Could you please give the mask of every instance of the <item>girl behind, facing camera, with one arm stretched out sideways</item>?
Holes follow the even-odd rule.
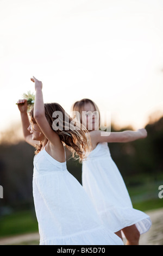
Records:
[[[74,103],[82,125],[89,130],[92,151],[82,165],[82,184],[89,194],[99,217],[105,225],[122,239],[126,245],[138,245],[140,234],[151,227],[150,217],[142,211],[133,209],[126,185],[115,162],[111,159],[109,142],[131,142],[145,138],[145,129],[137,131],[105,132],[99,130],[99,109],[90,99]],[[98,114],[97,114],[98,113]],[[105,136],[101,134],[105,133]],[[122,231],[122,233],[121,233]]]

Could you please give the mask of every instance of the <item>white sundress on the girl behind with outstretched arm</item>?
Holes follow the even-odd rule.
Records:
[[[151,218],[133,208],[107,142],[98,143],[83,161],[82,185],[102,222],[112,231],[117,232],[135,224],[140,234],[143,234],[151,227]]]

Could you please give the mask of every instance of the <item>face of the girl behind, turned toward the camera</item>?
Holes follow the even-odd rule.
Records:
[[[88,131],[99,130],[99,113],[91,103],[86,103],[82,109],[82,124]]]

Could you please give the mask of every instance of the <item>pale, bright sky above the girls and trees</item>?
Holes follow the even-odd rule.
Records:
[[[162,0],[0,0],[0,131],[43,83],[45,102],[70,113],[90,98],[118,127],[163,115]]]

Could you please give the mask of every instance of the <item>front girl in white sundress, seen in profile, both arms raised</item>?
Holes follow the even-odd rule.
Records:
[[[35,82],[36,94],[30,123],[27,100],[17,104],[24,138],[36,147],[33,196],[40,245],[123,245],[120,237],[104,228],[82,185],[66,168],[63,143],[82,160],[82,150],[88,148],[85,133],[71,129],[72,119],[58,103],[44,104],[42,82],[31,80]],[[60,114],[67,119],[60,118]],[[69,130],[66,125],[70,125]]]

